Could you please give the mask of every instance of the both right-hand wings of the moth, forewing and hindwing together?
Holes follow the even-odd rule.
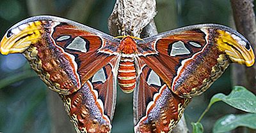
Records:
[[[140,40],[137,46],[140,62],[148,68],[142,69],[143,85],[138,85],[134,96],[136,132],[171,131],[189,99],[207,90],[230,62],[254,63],[248,41],[222,25],[184,27]],[[149,69],[163,85],[147,85]]]

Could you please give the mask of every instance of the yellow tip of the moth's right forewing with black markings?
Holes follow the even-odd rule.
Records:
[[[255,55],[249,41],[235,31],[216,30],[218,48],[225,52],[232,62],[250,67],[255,62]]]

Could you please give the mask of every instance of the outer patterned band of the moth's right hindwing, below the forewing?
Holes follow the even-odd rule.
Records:
[[[154,99],[152,99],[152,101],[147,104],[147,110],[145,110],[145,115],[143,115],[143,117],[141,117],[138,122],[135,121],[136,126],[134,127],[134,131],[171,131],[175,127],[177,122],[179,122],[184,108],[189,101],[190,99],[182,98],[178,95],[173,94],[173,92],[166,86],[166,84],[164,84],[159,89],[159,91],[154,94]],[[144,103],[139,103],[138,106],[140,106],[140,104],[144,105]]]

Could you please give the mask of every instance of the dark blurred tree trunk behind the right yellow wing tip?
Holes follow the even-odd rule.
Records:
[[[243,34],[256,48],[256,24],[255,13],[253,11],[253,0],[230,0],[233,17],[236,23],[237,31]],[[254,51],[255,52],[255,51]],[[254,53],[255,54],[255,53]],[[242,85],[256,94],[256,66],[244,67],[234,64],[232,66],[233,85]],[[247,129],[237,129],[234,132],[243,132]],[[248,129],[249,132],[255,133],[256,130]]]

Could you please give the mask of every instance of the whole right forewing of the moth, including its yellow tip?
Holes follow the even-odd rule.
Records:
[[[255,59],[241,34],[216,24],[183,27],[137,43],[140,59],[182,97],[202,94],[230,62],[252,66]]]

